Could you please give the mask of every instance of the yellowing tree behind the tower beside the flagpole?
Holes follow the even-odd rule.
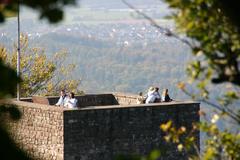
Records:
[[[21,36],[21,95],[34,94],[58,95],[62,89],[80,93],[80,80],[72,79],[71,72],[74,64],[65,64],[66,51],[57,52],[52,59],[48,58],[41,48],[29,47],[28,37]],[[4,47],[0,48],[0,57],[13,69],[16,69],[17,51],[9,53]]]

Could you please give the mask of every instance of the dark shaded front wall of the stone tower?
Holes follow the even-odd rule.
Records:
[[[160,124],[172,120],[191,128],[199,121],[199,104],[165,103],[138,106],[109,106],[64,111],[65,160],[113,160],[117,155],[146,155],[159,147],[164,160],[186,159],[167,145]],[[199,133],[196,133],[199,144]]]

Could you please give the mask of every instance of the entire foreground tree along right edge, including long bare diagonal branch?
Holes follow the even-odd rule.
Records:
[[[191,96],[216,109],[211,118],[206,118],[206,113],[200,112],[205,121],[193,124],[193,132],[200,129],[206,134],[203,152],[196,152],[189,159],[239,159],[240,154],[240,110],[234,106],[239,100],[240,71],[240,21],[239,2],[230,0],[164,0],[173,10],[170,18],[176,22],[177,30],[185,34],[187,38],[181,38],[178,34],[159,26],[151,17],[140,12],[134,6],[122,0],[130,8],[133,8],[143,17],[148,19],[153,26],[164,30],[167,36],[179,39],[187,44],[195,56],[192,63],[187,67],[189,86],[197,84],[199,92],[193,93],[188,90],[186,83],[179,83],[178,87]],[[208,86],[213,84],[228,83],[231,88],[218,103],[209,100]],[[235,124],[235,132],[226,128],[221,130],[216,122],[223,117],[230,118]],[[178,150],[189,152],[194,146],[194,137],[186,137],[186,128],[174,127],[171,121],[160,127],[166,136],[166,141],[177,144]],[[185,138],[184,138],[185,137]],[[180,141],[184,139],[183,141]],[[197,149],[198,150],[198,149]]]

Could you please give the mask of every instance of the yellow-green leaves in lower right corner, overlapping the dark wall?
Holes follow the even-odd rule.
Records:
[[[206,120],[206,114],[201,113]],[[206,141],[204,143],[204,149],[202,153],[191,154],[191,146],[197,147],[194,141],[194,135],[184,135],[186,133],[185,127],[176,129],[169,121],[161,125],[161,129],[166,133],[164,139],[167,142],[173,142],[178,145],[180,152],[187,151],[189,159],[239,159],[240,158],[240,134],[232,133],[228,130],[221,131],[216,125],[220,116],[214,114],[211,118],[211,123],[204,121],[199,124],[194,124],[193,129],[189,133],[193,133],[195,130],[200,129],[206,133]],[[181,142],[180,139],[183,139]],[[196,148],[198,151],[198,149]]]

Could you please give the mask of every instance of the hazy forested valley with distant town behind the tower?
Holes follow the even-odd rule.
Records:
[[[143,1],[132,2],[146,8]],[[132,16],[131,10],[112,10],[121,6],[119,3],[106,0],[96,6],[94,1],[82,1],[83,7],[69,8],[67,13],[72,16],[57,26],[33,20],[31,11],[23,9],[21,31],[29,36],[31,46],[45,48],[49,57],[67,49],[70,54],[66,61],[77,64],[74,76],[82,79],[86,92],[137,93],[154,85],[169,88],[173,97],[183,98],[176,84],[185,79],[185,65],[191,57],[187,46],[164,36],[142,17]],[[174,30],[171,21],[157,16],[157,6],[161,5],[152,5],[147,12],[155,15],[161,26]],[[16,21],[10,19],[0,32],[0,43],[12,49]]]

